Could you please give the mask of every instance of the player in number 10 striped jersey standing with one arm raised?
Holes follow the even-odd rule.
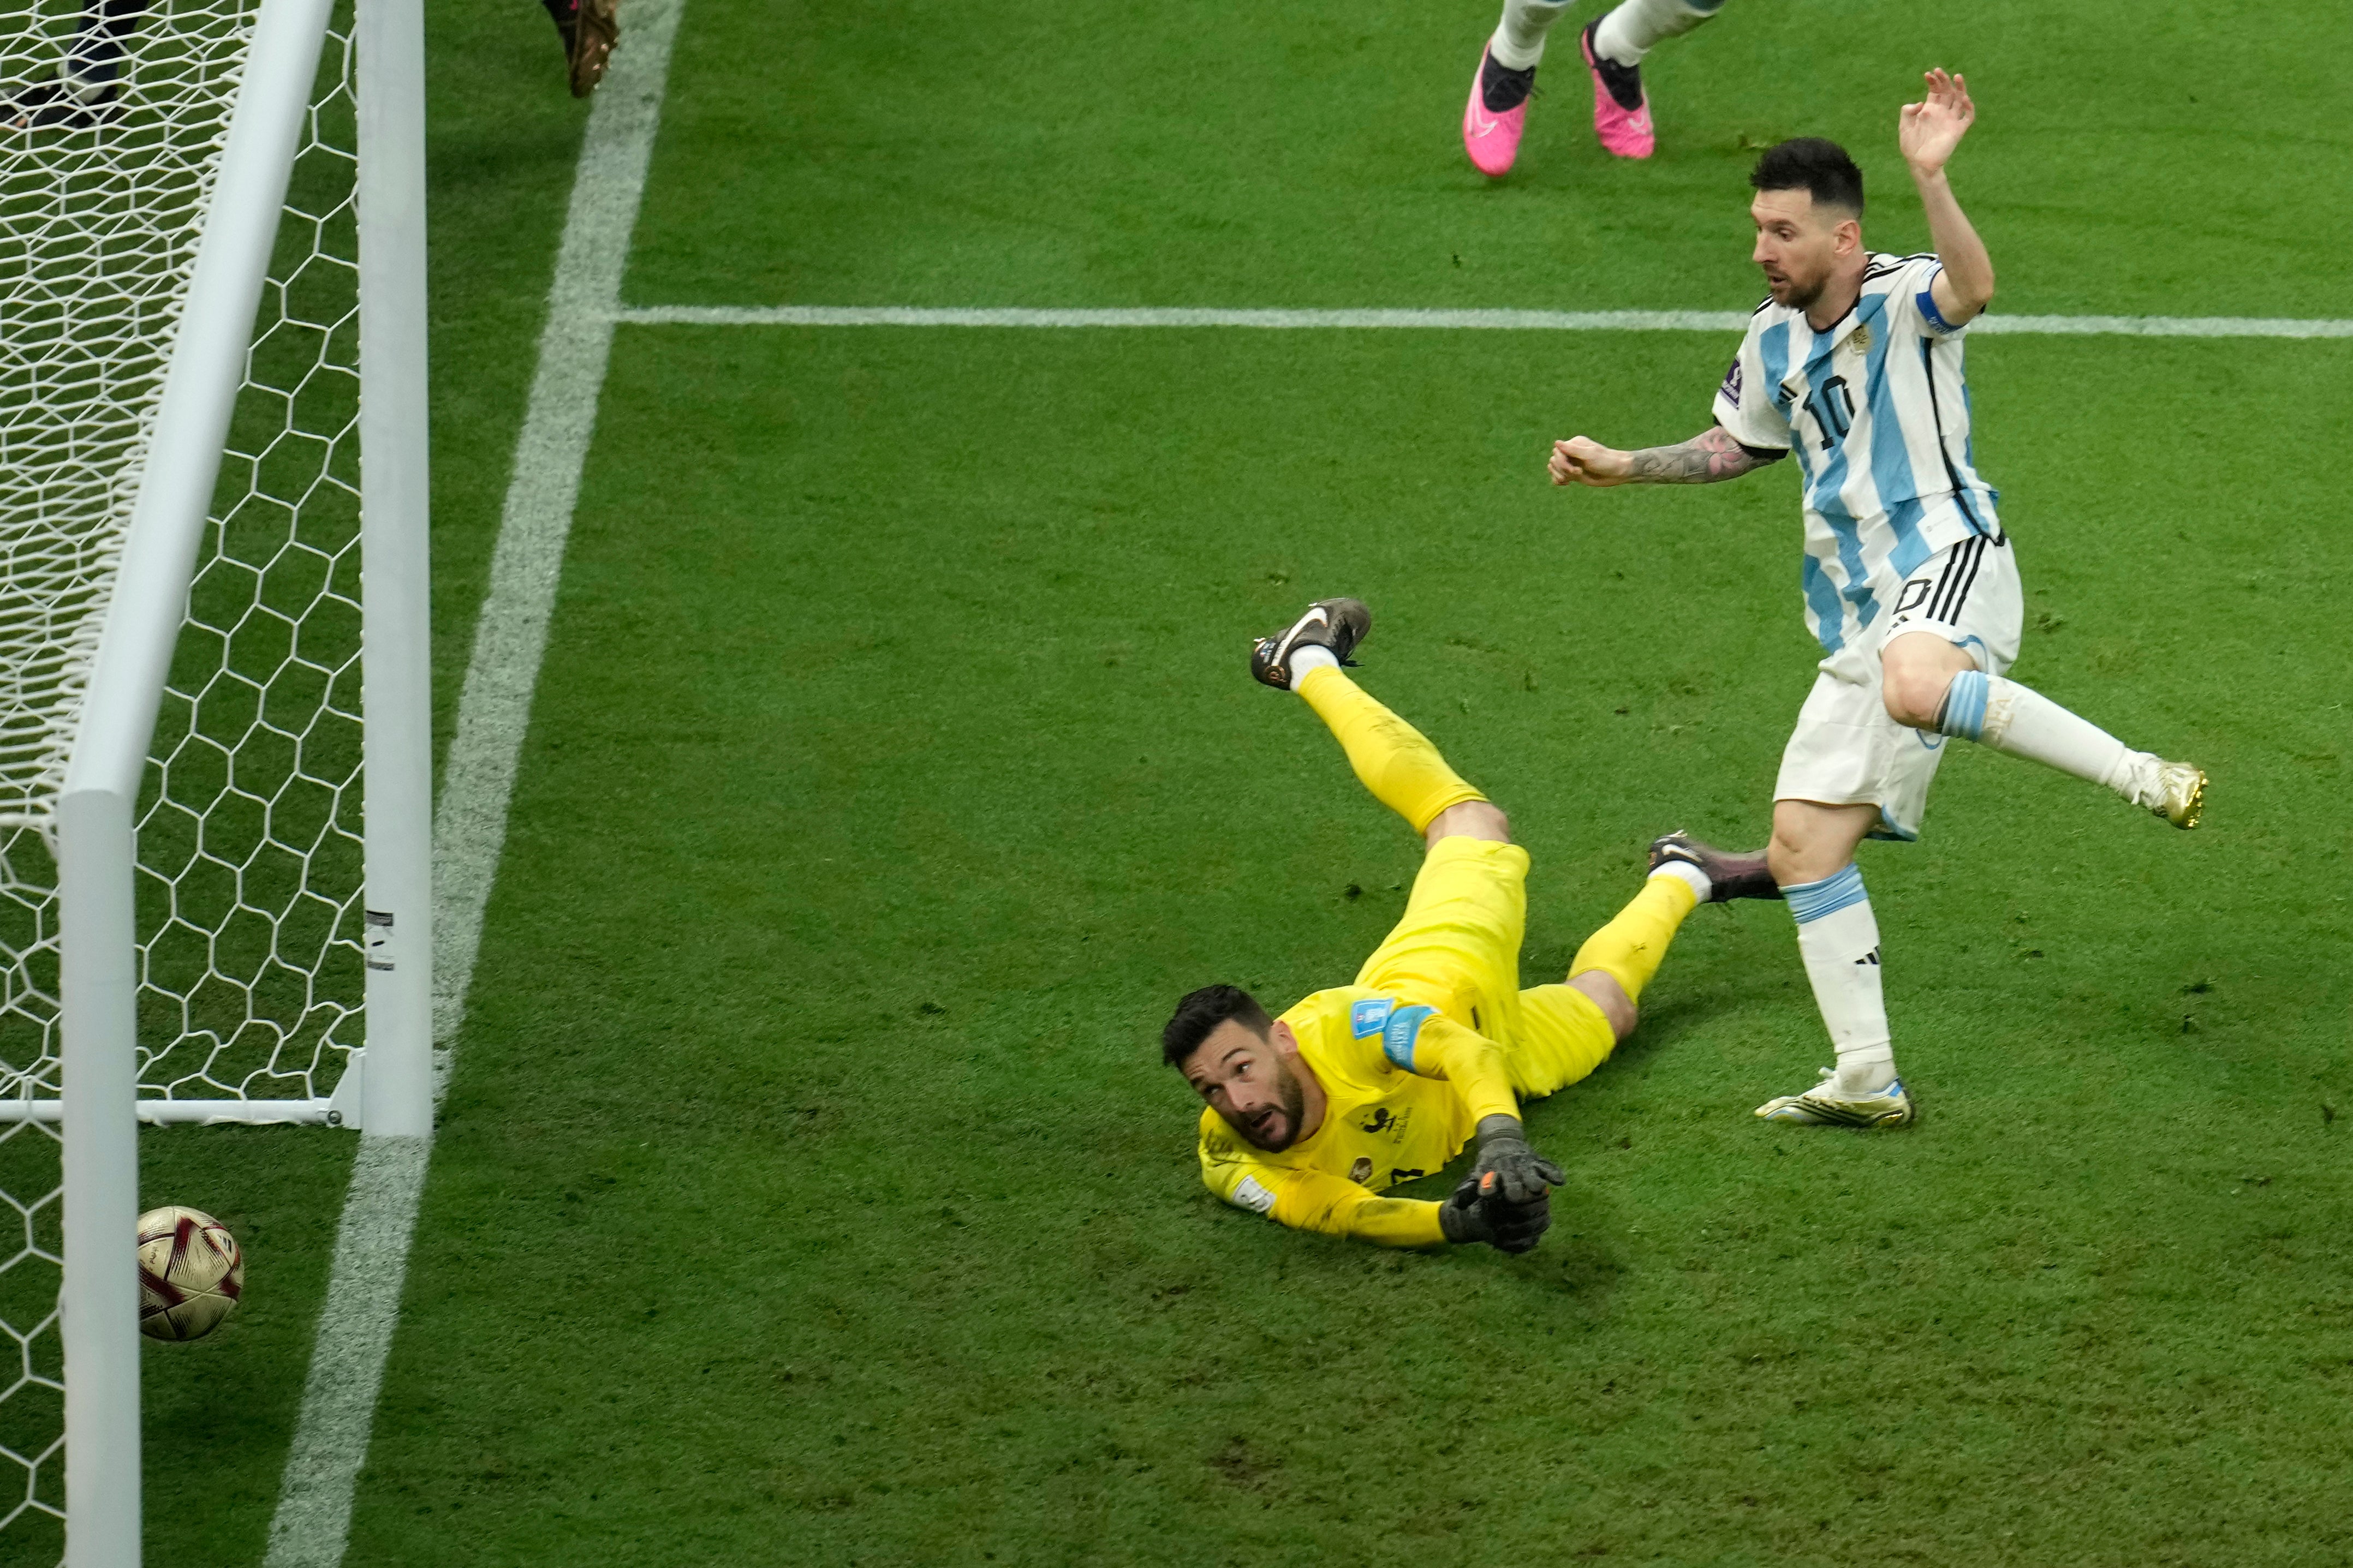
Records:
[[[1647,451],[1553,444],[1553,482],[1595,487],[1706,484],[1798,454],[1800,583],[1821,665],[1781,755],[1769,865],[1838,1067],[1760,1105],[1772,1121],[1913,1119],[1854,849],[1920,835],[1946,738],[2089,778],[2174,827],[2205,809],[2202,771],[2137,752],[2007,677],[2024,616],[2017,545],[1972,458],[1962,369],[1993,261],[1944,172],[1974,120],[1967,82],[1944,71],[1904,106],[1904,162],[1937,244],[1920,256],[1864,249],[1864,176],[1835,143],[1767,150],[1748,214],[1769,299],[1715,390],[1715,423]]]

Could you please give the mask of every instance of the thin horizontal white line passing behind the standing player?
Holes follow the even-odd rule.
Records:
[[[631,306],[631,327],[1247,327],[1273,331],[1741,331],[1746,310],[1016,310],[929,306]],[[1988,315],[1969,336],[2353,339],[2353,322],[2261,315]]]

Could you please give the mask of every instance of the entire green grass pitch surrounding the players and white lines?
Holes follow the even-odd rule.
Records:
[[[626,296],[1746,308],[1753,148],[1845,139],[1920,247],[1948,63],[1998,310],[2353,315],[2341,5],[1729,0],[1640,167],[1591,12],[1487,188],[1485,0],[689,0]],[[581,113],[536,7],[431,21],[447,738]],[[1346,980],[1417,863],[1245,679],[1306,597],[1513,811],[1532,976],[1652,835],[1762,835],[1793,477],[1541,480],[1704,425],[1729,350],[624,327],[346,1561],[2353,1561],[2341,341],[1972,348],[2021,679],[2214,797],[1965,750],[1864,851],[1918,1128],[1751,1121],[1828,1051],[1786,912],[1701,910],[1529,1112],[1539,1253],[1202,1192],[1167,1006]],[[249,1255],[146,1352],[151,1561],[254,1563],[351,1140],[144,1161]]]

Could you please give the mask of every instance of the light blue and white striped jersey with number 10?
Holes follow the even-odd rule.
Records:
[[[1937,256],[1873,254],[1828,331],[1769,299],[1715,390],[1715,423],[1786,447],[1805,470],[1805,623],[1824,663],[1859,646],[1904,578],[1946,545],[2000,538],[1995,489],[1969,461],[1962,327],[1929,296]]]

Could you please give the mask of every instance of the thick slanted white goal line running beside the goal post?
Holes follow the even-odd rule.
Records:
[[[499,522],[489,592],[459,696],[456,733],[433,816],[433,1039],[442,1051],[466,1013],[489,900],[506,844],[506,804],[548,644],[548,614],[579,496],[595,407],[612,353],[614,306],[645,167],[661,122],[671,40],[682,0],[631,0],[628,33],[598,92],[572,176],[539,374],[515,442],[515,473]],[[376,1420],[384,1359],[393,1347],[409,1237],[424,1194],[424,1138],[360,1138],[360,1157],[334,1241],[327,1305],[287,1453],[266,1568],[336,1568],[351,1537],[351,1500]]]

